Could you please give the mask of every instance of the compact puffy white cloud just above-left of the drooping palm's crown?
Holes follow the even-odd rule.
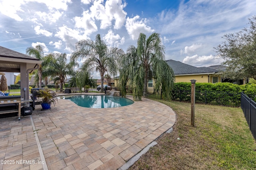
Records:
[[[146,25],[146,19],[138,21],[140,16],[135,16],[134,18],[127,18],[126,19],[126,30],[130,37],[135,40],[138,39],[140,33],[152,33],[154,29]]]

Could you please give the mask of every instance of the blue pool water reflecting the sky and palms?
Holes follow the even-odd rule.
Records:
[[[127,98],[106,95],[74,95],[71,97],[63,97],[82,107],[89,108],[110,108],[121,107],[133,104],[134,102]]]

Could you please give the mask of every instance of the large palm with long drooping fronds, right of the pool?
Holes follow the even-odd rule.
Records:
[[[152,33],[147,37],[140,33],[137,48],[130,46],[125,59],[120,60],[120,86],[124,91],[126,82],[131,81],[134,100],[148,94],[148,80],[154,75],[156,90],[163,90],[163,98],[170,100],[175,76],[172,68],[165,62],[164,46],[160,34]],[[126,63],[126,64],[124,64]],[[121,75],[123,74],[123,75]]]

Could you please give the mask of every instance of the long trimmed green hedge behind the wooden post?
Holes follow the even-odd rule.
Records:
[[[256,101],[256,84],[237,85],[232,83],[196,83],[196,101],[220,105],[240,105],[240,94],[244,92]],[[191,83],[174,84],[173,100],[190,101]]]

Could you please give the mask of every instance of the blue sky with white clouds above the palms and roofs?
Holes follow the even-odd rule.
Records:
[[[249,27],[255,9],[255,0],[0,0],[0,46],[26,54],[41,45],[69,60],[76,42],[97,34],[126,51],[156,32],[166,60],[211,66],[222,63],[214,47]]]

